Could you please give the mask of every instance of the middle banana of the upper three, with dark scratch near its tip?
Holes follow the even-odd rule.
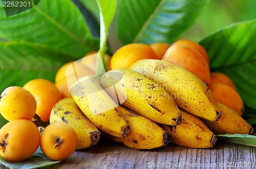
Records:
[[[114,69],[101,76],[101,86],[116,101],[154,122],[179,125],[180,110],[157,83],[131,69]],[[116,100],[117,98],[117,100]]]

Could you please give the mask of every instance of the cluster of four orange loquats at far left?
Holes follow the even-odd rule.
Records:
[[[1,94],[0,112],[9,122],[0,129],[1,157],[10,162],[23,161],[39,146],[52,160],[72,155],[77,144],[75,130],[66,123],[48,122],[52,107],[60,99],[58,88],[45,79],[6,88]],[[41,133],[40,127],[45,127]]]

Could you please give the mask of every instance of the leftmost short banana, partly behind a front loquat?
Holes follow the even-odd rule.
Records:
[[[72,98],[62,99],[53,106],[50,124],[55,122],[65,122],[75,129],[76,150],[94,146],[99,141],[100,132],[82,113]]]

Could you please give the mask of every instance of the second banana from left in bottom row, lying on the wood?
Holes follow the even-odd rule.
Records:
[[[122,106],[118,107],[131,127],[130,134],[125,137],[115,137],[102,132],[113,141],[131,149],[154,149],[165,146],[170,142],[170,135],[152,120],[143,117]]]

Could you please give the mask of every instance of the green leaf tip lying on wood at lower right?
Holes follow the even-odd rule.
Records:
[[[248,134],[224,134],[216,135],[216,137],[223,141],[244,144],[247,146],[256,147],[256,136]]]

